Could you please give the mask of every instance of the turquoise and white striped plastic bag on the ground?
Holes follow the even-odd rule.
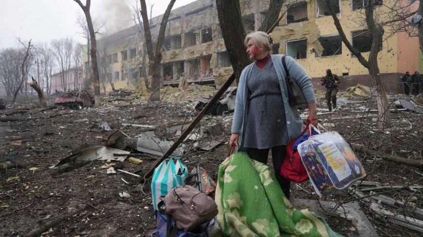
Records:
[[[152,176],[152,200],[154,210],[160,202],[160,196],[166,196],[170,190],[177,186],[184,186],[188,177],[186,166],[177,156],[164,160]]]

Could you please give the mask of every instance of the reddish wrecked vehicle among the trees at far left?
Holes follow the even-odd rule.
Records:
[[[94,93],[90,90],[73,90],[58,95],[54,103],[75,109],[91,107],[94,105]]]

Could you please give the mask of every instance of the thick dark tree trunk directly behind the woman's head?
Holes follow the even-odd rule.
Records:
[[[216,0],[216,8],[226,51],[239,83],[242,70],[251,63],[244,46],[246,34],[241,20],[239,1]]]

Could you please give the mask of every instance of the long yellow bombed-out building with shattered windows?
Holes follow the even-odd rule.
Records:
[[[269,6],[269,0],[241,0],[242,21],[247,32],[257,30]],[[367,59],[372,34],[363,27],[365,0],[331,0],[339,21],[353,46]],[[375,13],[383,16],[391,1],[378,0]],[[385,4],[385,5],[383,5]],[[325,69],[342,76],[342,87],[362,84],[372,86],[364,68],[342,43],[325,0],[287,0],[285,14],[273,30],[273,53],[292,56],[321,88]],[[151,31],[157,38],[163,15],[151,19]],[[389,27],[384,27],[385,35]],[[132,26],[98,40],[99,68],[103,90],[140,85],[148,75],[147,54],[142,32]],[[406,33],[394,33],[383,41],[379,52],[382,82],[389,92],[401,92],[400,76],[406,71],[420,71],[419,40]],[[163,85],[190,83],[219,87],[233,70],[220,31],[214,0],[197,0],[173,9],[163,43],[160,74]],[[84,69],[89,68],[86,55]],[[142,84],[142,83],[141,83]]]

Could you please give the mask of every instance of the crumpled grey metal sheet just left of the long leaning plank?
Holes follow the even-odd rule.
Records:
[[[163,155],[173,145],[172,141],[162,140],[154,135],[154,132],[145,132],[138,136],[136,142],[136,150],[139,152],[146,152],[155,155]],[[182,145],[183,146],[183,145]],[[181,156],[184,154],[184,149],[179,146],[172,155]]]

